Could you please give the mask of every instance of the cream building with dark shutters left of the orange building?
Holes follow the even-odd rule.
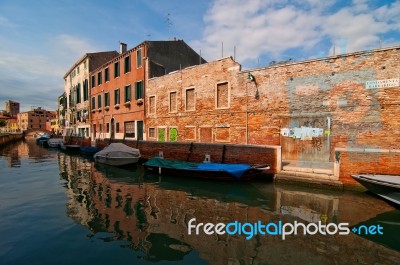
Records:
[[[64,135],[90,136],[89,75],[91,71],[117,55],[116,51],[87,53],[64,75],[66,97],[66,109],[63,115],[65,122],[62,123],[65,126]]]

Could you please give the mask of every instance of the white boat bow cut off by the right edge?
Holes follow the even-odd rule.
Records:
[[[369,191],[400,205],[400,176],[360,174],[352,177]]]

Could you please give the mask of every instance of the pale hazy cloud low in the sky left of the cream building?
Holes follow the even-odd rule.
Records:
[[[85,53],[95,51],[95,46],[64,34],[43,43],[41,49],[45,52],[11,45],[0,50],[0,99],[19,101],[23,110],[30,105],[54,108],[64,91],[64,74]]]

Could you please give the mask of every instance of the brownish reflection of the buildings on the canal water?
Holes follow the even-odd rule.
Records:
[[[379,222],[386,212],[398,214],[369,194],[161,178],[145,174],[140,166],[97,165],[62,153],[58,159],[69,199],[68,216],[90,229],[89,237],[107,235],[102,240],[126,241],[124,247],[140,259],[182,261],[197,251],[200,258],[195,263],[210,264],[396,264],[400,260],[399,249],[355,234],[297,235],[283,241],[270,235],[246,240],[243,235],[187,232],[191,218],[197,223],[321,220],[356,225],[370,219]]]

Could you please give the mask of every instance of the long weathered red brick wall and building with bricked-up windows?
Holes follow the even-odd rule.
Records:
[[[335,173],[400,174],[400,47],[241,71],[224,58],[150,79],[148,140],[281,146]]]

